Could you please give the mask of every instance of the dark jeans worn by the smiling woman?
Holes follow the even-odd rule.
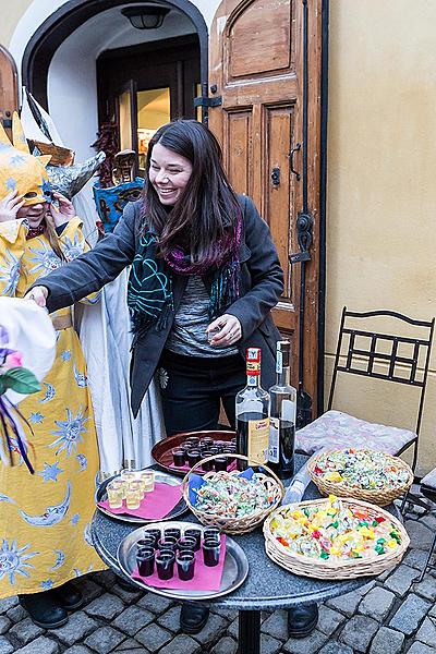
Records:
[[[234,397],[246,384],[240,354],[206,359],[165,350],[158,367],[167,435],[216,429],[220,400],[234,428]]]

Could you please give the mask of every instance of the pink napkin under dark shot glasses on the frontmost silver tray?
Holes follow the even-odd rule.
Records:
[[[209,568],[204,565],[203,552],[195,553],[194,578],[190,581],[179,579],[177,562],[174,561],[174,576],[172,579],[162,580],[157,576],[157,570],[149,577],[141,577],[138,569],[133,571],[133,579],[138,579],[147,585],[156,589],[171,589],[178,591],[219,591],[221,586],[222,570],[226,558],[226,536],[221,534],[221,552],[219,553],[218,566]]]

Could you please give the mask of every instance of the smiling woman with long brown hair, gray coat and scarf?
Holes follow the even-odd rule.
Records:
[[[40,279],[29,296],[55,311],[128,265],[133,412],[158,373],[168,435],[217,428],[221,401],[234,426],[249,346],[262,348],[263,386],[275,383],[280,335],[270,311],[283,274],[268,226],[232,190],[220,146],[202,123],[180,120],[156,132],[143,199],[126,206],[93,251]],[[202,605],[183,606],[184,631],[199,631],[206,619]]]

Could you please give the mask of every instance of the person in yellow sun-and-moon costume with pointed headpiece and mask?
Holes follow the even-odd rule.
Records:
[[[17,114],[13,145],[0,123],[0,295],[22,298],[88,249],[73,205],[51,192],[48,159],[29,154]],[[52,323],[53,366],[41,390],[20,404],[34,432],[26,453],[35,472],[13,439],[13,465],[0,464],[0,598],[19,595],[48,629],[83,603],[71,580],[105,568],[89,537],[99,462],[85,360],[71,308]]]

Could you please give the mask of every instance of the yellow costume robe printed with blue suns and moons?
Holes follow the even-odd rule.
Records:
[[[66,261],[87,250],[81,225],[73,218],[58,237]],[[27,240],[27,230],[25,220],[0,222],[0,295],[22,298],[38,277],[62,265],[46,237]],[[55,364],[43,390],[20,404],[34,431],[27,453],[35,474],[19,451],[13,467],[0,465],[0,598],[105,568],[89,537],[98,452],[85,360],[71,311],[52,317]]]

